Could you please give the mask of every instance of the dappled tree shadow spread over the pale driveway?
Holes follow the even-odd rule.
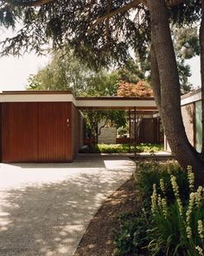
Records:
[[[73,255],[92,215],[131,176],[129,161],[127,169],[67,173],[55,182],[1,189],[0,255]]]

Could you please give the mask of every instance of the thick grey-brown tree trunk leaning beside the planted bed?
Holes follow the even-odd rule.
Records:
[[[160,110],[169,146],[183,169],[191,165],[196,185],[204,184],[204,162],[194,147],[189,144],[182,122],[180,83],[175,61],[175,52],[169,29],[169,13],[164,0],[147,0],[150,10],[152,43],[153,84],[156,104]],[[154,59],[156,58],[156,59]],[[156,84],[156,77],[158,84]]]

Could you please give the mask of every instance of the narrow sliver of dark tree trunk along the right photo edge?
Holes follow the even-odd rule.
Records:
[[[204,110],[204,0],[201,0],[201,27],[200,27],[200,48],[201,48],[201,106]],[[204,158],[204,111],[202,111],[202,150],[201,157]]]

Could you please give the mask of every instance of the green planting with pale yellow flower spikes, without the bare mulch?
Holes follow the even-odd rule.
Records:
[[[115,255],[204,255],[204,189],[192,168],[141,163],[136,177],[141,207],[119,217]]]

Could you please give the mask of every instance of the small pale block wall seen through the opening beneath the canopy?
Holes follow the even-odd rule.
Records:
[[[101,121],[98,125],[98,129],[104,125],[104,122]],[[103,127],[101,128],[99,137],[98,137],[98,142],[99,144],[116,144],[116,127]]]

